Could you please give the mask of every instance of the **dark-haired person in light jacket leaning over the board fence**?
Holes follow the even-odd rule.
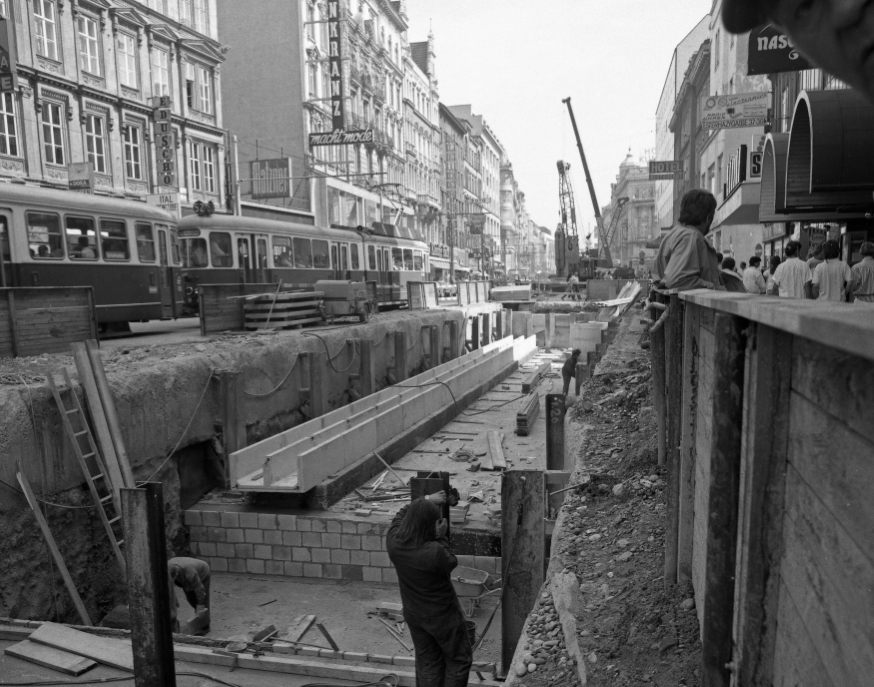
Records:
[[[716,215],[716,198],[692,189],[680,201],[680,217],[659,244],[653,285],[665,289],[724,289],[716,250],[704,237]]]

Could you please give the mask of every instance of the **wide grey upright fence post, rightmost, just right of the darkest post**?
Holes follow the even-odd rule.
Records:
[[[747,348],[733,623],[734,662],[744,685],[766,681],[773,672],[793,338],[759,325]]]

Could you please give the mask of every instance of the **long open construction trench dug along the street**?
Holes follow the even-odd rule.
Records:
[[[550,305],[538,309],[552,310]],[[304,684],[313,676],[361,684],[394,673],[399,684],[414,684],[412,641],[396,624],[400,597],[384,534],[409,501],[410,489],[418,488],[410,478],[436,471],[462,497],[450,514],[451,541],[459,566],[477,577],[460,597],[462,607],[477,637],[488,624],[471,684],[505,678],[505,684],[526,685],[662,684],[662,677],[664,684],[695,684],[700,650],[694,610],[683,607],[689,592],[664,592],[652,581],[660,566],[664,482],[653,474],[658,471],[639,310],[586,328],[598,334],[592,355],[581,359],[581,395],[574,395],[572,381],[562,436],[555,439],[554,427],[547,436],[547,396],[555,403],[561,394],[561,364],[572,339],[584,335],[575,325],[598,314],[597,308],[579,310],[535,314],[483,303],[384,313],[364,325],[104,351],[134,476],[163,487],[167,555],[203,559],[213,573],[210,632],[174,637],[177,672],[246,685]],[[602,319],[610,320],[609,313]],[[110,626],[88,631],[107,640],[129,637],[125,629],[111,629],[125,625],[125,612],[117,608],[126,602],[124,579],[106,533],[87,508],[90,495],[70,459],[54,400],[40,383],[48,370],[64,365],[71,360],[47,356],[0,370],[6,419],[0,479],[7,485],[0,485],[6,492],[0,500],[7,533],[0,545],[4,649],[42,621],[82,625],[33,513],[10,488],[18,484],[18,462],[46,501],[76,507],[43,510],[88,615]],[[533,417],[532,393],[539,409]],[[381,396],[368,402],[373,394]],[[390,399],[399,394],[407,398],[395,416]],[[362,417],[370,412],[366,408],[376,408],[371,414],[381,420],[371,424],[388,423],[380,430],[388,434],[369,436],[364,424],[355,425],[348,418],[358,417],[356,408]],[[526,411],[530,426],[517,434],[524,422],[519,413]],[[312,434],[310,450],[342,457],[354,447],[364,455],[313,474],[303,461],[282,468],[281,449],[306,440],[295,437],[294,428],[337,412],[347,413],[342,421],[354,430],[347,432],[351,443],[343,443],[342,433],[320,430],[329,432],[327,439],[319,443]],[[602,429],[607,448],[601,448]],[[226,448],[235,449],[227,450],[229,459]],[[513,476],[522,475],[524,482],[529,471],[542,486],[520,491]],[[282,489],[289,479],[300,480],[302,489]],[[516,523],[502,518],[502,491],[529,509],[518,538],[512,532],[518,541],[510,545],[510,561],[502,557],[508,550],[502,540]],[[635,507],[643,515],[627,513]],[[519,509],[515,503],[511,508]],[[588,509],[597,515],[589,518]],[[598,551],[584,557],[587,549]],[[531,569],[543,574],[532,576]],[[636,582],[641,588],[632,594]],[[499,604],[502,584],[507,591]],[[649,595],[658,597],[655,606],[667,610],[645,607],[647,585]],[[586,600],[579,598],[581,591],[589,594]],[[620,611],[623,596],[644,607]],[[188,607],[181,594],[179,599],[184,621]],[[629,613],[641,618],[629,622]],[[654,624],[644,618],[652,613]],[[607,616],[603,627],[590,622],[596,615]],[[312,626],[296,637],[303,644],[283,642],[308,616],[327,633]],[[270,641],[252,643],[271,626],[276,633]],[[647,633],[653,641],[646,646],[632,652],[633,641],[619,646],[623,634],[640,641]],[[511,643],[504,641],[507,634]],[[677,639],[665,645],[670,637]],[[249,651],[229,654],[232,641],[248,642]],[[101,664],[85,677],[124,674]],[[57,673],[4,655],[0,675],[7,681],[45,680]],[[180,676],[178,682],[210,684],[195,679],[205,678]]]

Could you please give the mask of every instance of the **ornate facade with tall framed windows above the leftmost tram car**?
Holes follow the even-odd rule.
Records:
[[[0,177],[68,188],[70,165],[91,163],[94,193],[178,188],[183,210],[200,200],[221,211],[224,50],[214,0],[7,0],[0,11],[18,77],[17,90],[0,94]],[[172,170],[159,165],[158,96],[171,107]]]

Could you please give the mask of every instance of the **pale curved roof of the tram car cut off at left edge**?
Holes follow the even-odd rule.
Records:
[[[0,183],[0,204],[2,203],[47,206],[59,210],[78,210],[94,214],[132,214],[139,219],[151,219],[168,224],[175,222],[169,213],[142,201],[26,184]]]

